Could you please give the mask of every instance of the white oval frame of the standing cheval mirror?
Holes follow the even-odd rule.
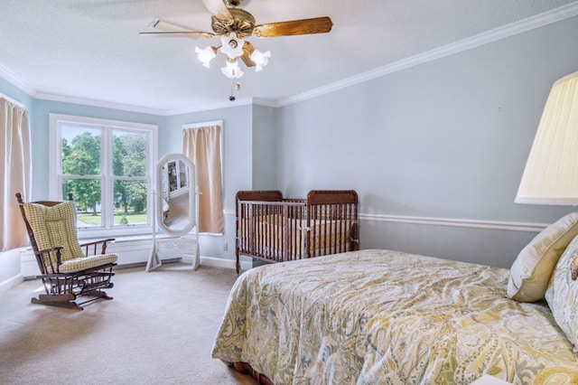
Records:
[[[189,183],[189,222],[182,229],[171,229],[164,223],[163,215],[163,165],[170,162],[182,162],[187,167],[187,180]],[[156,163],[156,224],[167,235],[181,237],[191,231],[196,225],[196,183],[195,165],[182,154],[167,154]]]

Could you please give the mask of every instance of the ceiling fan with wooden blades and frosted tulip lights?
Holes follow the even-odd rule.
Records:
[[[222,52],[228,56],[227,65],[223,67],[223,73],[231,79],[240,78],[243,72],[238,66],[238,58],[247,67],[256,67],[256,71],[262,70],[267,64],[270,52],[259,52],[253,44],[245,39],[250,36],[261,38],[292,36],[312,33],[328,33],[333,23],[331,18],[315,17],[312,19],[292,20],[278,23],[256,24],[255,17],[244,9],[239,8],[241,0],[202,0],[203,5],[211,14],[212,33],[204,31],[186,31],[179,28],[178,31],[146,32],[143,35],[164,35],[183,37],[212,38],[221,37],[219,47],[196,48],[197,57],[203,65],[209,68],[210,61]],[[156,27],[160,23],[155,18],[149,27]]]

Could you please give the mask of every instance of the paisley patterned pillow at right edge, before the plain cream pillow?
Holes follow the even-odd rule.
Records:
[[[545,300],[556,324],[566,334],[578,353],[578,281],[572,279],[572,268],[578,259],[578,237],[574,238],[558,261],[545,291]]]

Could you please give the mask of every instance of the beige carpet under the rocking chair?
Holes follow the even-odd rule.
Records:
[[[2,384],[255,384],[210,357],[235,271],[118,269],[112,301],[33,305],[40,281],[0,294]]]

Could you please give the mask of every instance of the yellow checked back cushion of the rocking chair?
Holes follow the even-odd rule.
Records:
[[[76,232],[74,202],[62,202],[52,207],[24,203],[23,208],[39,249],[63,246],[62,261],[84,257]]]

